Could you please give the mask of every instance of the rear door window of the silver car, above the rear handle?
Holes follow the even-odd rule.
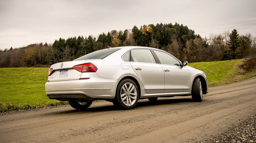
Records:
[[[148,49],[131,50],[131,61],[142,63],[156,63],[153,54]]]

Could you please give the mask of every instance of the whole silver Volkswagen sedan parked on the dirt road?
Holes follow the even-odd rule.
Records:
[[[146,98],[191,95],[201,102],[208,80],[187,63],[155,48],[108,48],[53,64],[45,91],[50,99],[68,101],[75,109],[86,109],[99,99],[121,109],[132,109]]]

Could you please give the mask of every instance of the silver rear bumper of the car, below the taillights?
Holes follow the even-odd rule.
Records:
[[[45,83],[45,92],[50,99],[114,99],[116,79],[99,78],[86,80],[54,81]]]

